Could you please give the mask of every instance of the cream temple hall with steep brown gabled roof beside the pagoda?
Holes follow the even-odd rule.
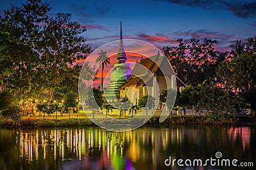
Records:
[[[156,81],[153,81],[154,77]],[[157,89],[157,84],[159,89]],[[150,95],[157,101],[161,90],[172,88],[181,91],[184,87],[186,87],[186,84],[175,75],[168,59],[158,52],[152,57],[137,62],[131,76],[118,90],[120,90],[121,98],[129,97],[129,100],[136,104],[138,99],[143,96]]]

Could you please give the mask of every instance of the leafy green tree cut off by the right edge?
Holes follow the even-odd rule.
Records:
[[[221,79],[221,85],[242,95],[253,110],[256,109],[255,98],[253,98],[256,96],[255,39],[255,37],[246,39],[243,53],[222,62],[217,72]]]

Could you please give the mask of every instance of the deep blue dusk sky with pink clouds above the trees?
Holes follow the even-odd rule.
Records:
[[[84,34],[92,49],[118,39],[120,21],[124,38],[136,38],[161,48],[175,40],[211,38],[218,50],[230,50],[236,40],[256,36],[256,1],[237,0],[45,0],[51,13],[71,13],[86,25]],[[0,11],[24,0],[1,0]]]

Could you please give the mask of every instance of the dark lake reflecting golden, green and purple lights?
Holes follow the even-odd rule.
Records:
[[[0,169],[255,169],[255,128],[0,129]]]

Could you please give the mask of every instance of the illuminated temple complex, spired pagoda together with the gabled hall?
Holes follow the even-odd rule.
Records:
[[[141,57],[140,62],[137,60],[133,71],[130,64],[125,63],[126,60],[121,22],[117,64],[111,72],[108,89],[104,92],[104,96],[111,104],[115,104],[116,99],[124,97],[128,97],[133,104],[136,104],[140,97],[147,95],[154,97],[157,103],[161,90],[169,88],[182,90],[186,87],[186,84],[175,75],[168,59],[159,52],[146,59]],[[153,81],[154,77],[156,81]]]

